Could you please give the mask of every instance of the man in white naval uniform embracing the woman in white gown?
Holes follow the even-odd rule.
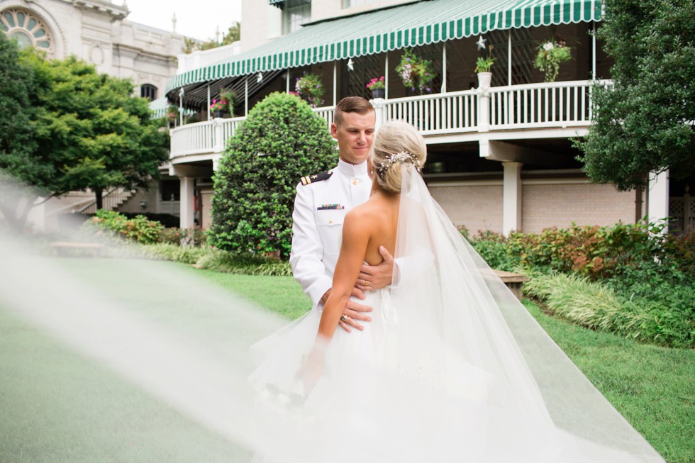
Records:
[[[367,156],[375,123],[374,108],[366,99],[348,96],[338,101],[330,124],[330,134],[338,140],[338,167],[302,177],[297,186],[289,262],[294,278],[314,307],[323,308],[330,294],[345,214],[369,199],[372,180],[367,174]],[[362,265],[353,296],[364,299],[363,291],[391,284],[394,258],[384,247],[379,247],[379,252],[384,261],[376,266]],[[351,327],[362,330],[359,321],[370,321],[369,311],[371,307],[349,300],[340,326],[348,332]]]

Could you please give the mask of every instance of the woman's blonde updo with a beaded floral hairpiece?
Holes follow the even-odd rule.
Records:
[[[372,168],[382,190],[401,192],[401,169],[412,165],[421,172],[427,158],[427,145],[413,125],[403,121],[385,123],[372,143]]]

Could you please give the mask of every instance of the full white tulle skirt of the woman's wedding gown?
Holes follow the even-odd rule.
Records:
[[[338,328],[318,384],[297,377],[316,339],[314,310],[252,347],[250,376],[265,430],[257,462],[631,462],[569,435],[547,415],[491,396],[496,378],[426,327],[400,338],[390,290],[367,294],[372,322]],[[419,352],[404,359],[401,353]]]

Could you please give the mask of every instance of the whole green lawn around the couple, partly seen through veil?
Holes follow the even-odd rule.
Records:
[[[51,262],[83,284],[98,286],[101,294],[123,303],[128,311],[229,350],[230,356],[238,356],[235,362],[248,362],[242,358],[248,352],[243,346],[282,323],[259,323],[254,314],[276,312],[296,318],[310,306],[291,277],[219,274],[144,260]],[[240,303],[235,294],[265,310]],[[667,461],[695,461],[695,352],[595,333],[551,318],[532,302],[526,301],[526,306]],[[1,297],[0,416],[1,462],[250,458],[243,447],[28,323],[3,305]]]

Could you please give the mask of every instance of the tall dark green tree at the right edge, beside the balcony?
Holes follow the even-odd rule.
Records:
[[[606,0],[598,31],[613,87],[593,88],[592,125],[577,146],[594,182],[646,186],[650,172],[695,172],[695,4]]]

